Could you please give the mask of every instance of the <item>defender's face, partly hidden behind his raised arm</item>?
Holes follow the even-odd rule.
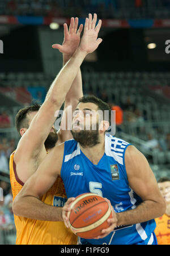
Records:
[[[29,123],[28,123],[29,125],[31,124],[31,121],[36,114],[37,114],[37,111],[33,111],[27,114],[29,118]],[[57,132],[53,125],[53,127],[50,129],[48,137],[44,142],[45,148],[46,149],[53,148],[56,145],[57,140],[58,140]]]

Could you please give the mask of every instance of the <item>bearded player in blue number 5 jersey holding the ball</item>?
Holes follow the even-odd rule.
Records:
[[[92,36],[97,39],[94,29],[90,16],[81,41],[86,54],[90,52]],[[69,198],[62,208],[68,228],[67,213],[75,196],[93,192],[107,198],[112,205],[109,228],[94,239],[81,238],[79,244],[157,244],[154,219],[165,212],[164,199],[145,156],[133,145],[107,133],[111,120],[105,119],[105,111],[111,112],[108,104],[95,96],[79,99],[72,120],[73,139],[50,151],[16,196],[13,211],[18,216],[57,221],[56,207],[40,199],[61,174]]]

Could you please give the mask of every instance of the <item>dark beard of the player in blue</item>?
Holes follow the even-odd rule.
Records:
[[[71,130],[71,134],[73,135],[73,139],[79,142],[79,144],[83,148],[92,148],[100,143],[99,140],[99,129],[96,130],[82,130],[79,132],[74,132]]]

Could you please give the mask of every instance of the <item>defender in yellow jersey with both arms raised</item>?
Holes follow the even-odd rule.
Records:
[[[46,151],[56,143],[71,139],[70,131],[54,129],[55,114],[65,100],[73,110],[78,99],[83,96],[80,65],[82,53],[76,51],[80,42],[83,25],[78,28],[78,18],[71,18],[69,31],[64,24],[64,41],[62,45],[53,45],[63,53],[63,68],[50,86],[42,106],[25,107],[16,115],[16,128],[21,139],[15,152],[10,157],[10,181],[13,199],[18,195],[27,179],[36,171],[46,157]],[[62,121],[61,121],[62,122]],[[76,244],[77,237],[66,228],[61,218],[61,210],[65,203],[65,190],[60,177],[42,196],[42,203],[59,206],[56,212],[57,221],[33,220],[15,217],[16,244]],[[28,209],[29,211],[29,209]]]

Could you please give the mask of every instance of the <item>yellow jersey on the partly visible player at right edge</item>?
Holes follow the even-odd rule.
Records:
[[[158,245],[170,245],[170,216],[164,214],[162,217],[156,218],[155,221]]]

